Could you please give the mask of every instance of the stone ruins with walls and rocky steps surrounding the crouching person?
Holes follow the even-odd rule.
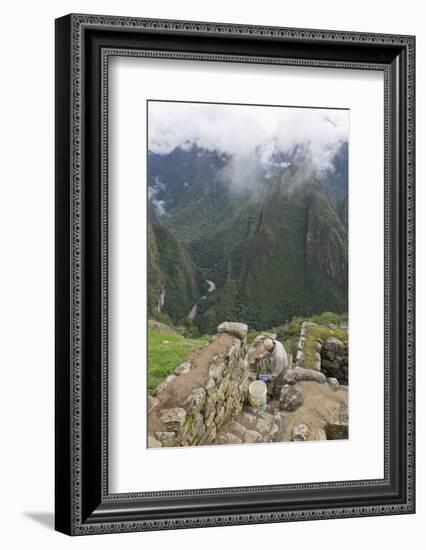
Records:
[[[296,366],[283,377],[279,399],[258,411],[249,404],[248,387],[270,369],[263,341],[274,335],[258,336],[248,347],[247,325],[219,325],[218,334],[148,398],[148,447],[346,439],[347,385],[321,367],[328,374],[334,368],[347,383],[347,348],[335,338],[317,341],[318,361],[305,368],[310,326],[302,324]]]

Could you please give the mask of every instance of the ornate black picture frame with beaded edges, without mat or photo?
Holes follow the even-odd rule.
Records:
[[[384,478],[110,494],[108,58],[382,71]],[[56,21],[56,529],[70,535],[414,513],[415,38],[68,15]]]

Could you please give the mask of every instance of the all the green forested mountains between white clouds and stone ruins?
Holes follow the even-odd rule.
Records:
[[[151,195],[162,201],[161,212],[151,204],[148,228],[151,311],[159,288],[173,320],[198,302],[203,333],[227,319],[264,328],[347,311],[347,147],[321,179],[303,161],[279,160],[251,189],[230,186],[224,155],[150,154]],[[216,289],[200,300],[206,279]]]

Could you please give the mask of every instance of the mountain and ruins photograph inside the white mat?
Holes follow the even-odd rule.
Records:
[[[350,110],[146,103],[147,447],[349,439]]]

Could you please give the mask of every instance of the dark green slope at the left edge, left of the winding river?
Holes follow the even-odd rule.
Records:
[[[148,313],[166,313],[173,321],[186,317],[206,291],[204,278],[173,233],[148,223]]]

